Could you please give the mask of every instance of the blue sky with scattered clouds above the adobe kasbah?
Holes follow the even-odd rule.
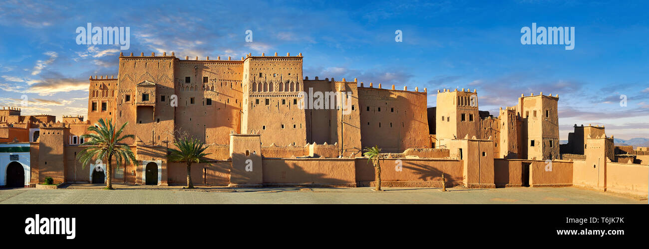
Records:
[[[301,52],[304,76],[409,89],[478,89],[480,109],[559,94],[559,130],[604,124],[649,137],[649,4],[626,1],[0,1],[0,105],[86,115],[88,76],[117,75],[117,45],[77,27],[130,27],[133,52],[184,58]],[[575,46],[522,45],[520,29],[575,27]],[[252,30],[253,41],[245,41]],[[395,42],[402,30],[402,42]],[[620,95],[627,96],[626,107]]]

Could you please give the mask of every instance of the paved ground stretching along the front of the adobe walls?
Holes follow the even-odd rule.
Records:
[[[646,199],[566,188],[224,188],[75,184],[0,189],[0,204],[647,204]]]

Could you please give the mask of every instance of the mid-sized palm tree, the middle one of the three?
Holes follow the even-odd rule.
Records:
[[[191,183],[191,164],[208,162],[204,159],[210,153],[204,153],[206,146],[201,140],[187,134],[180,135],[173,142],[178,149],[167,148],[167,159],[169,162],[185,162],[187,164],[187,188],[194,188]]]

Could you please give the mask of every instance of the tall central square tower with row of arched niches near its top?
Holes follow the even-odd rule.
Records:
[[[262,135],[262,146],[305,146],[306,118],[299,106],[302,54],[249,55],[243,82],[241,133]]]

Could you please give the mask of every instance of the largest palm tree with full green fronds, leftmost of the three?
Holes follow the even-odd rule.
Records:
[[[117,124],[113,124],[112,119],[108,120],[108,124],[106,124],[106,120],[102,118],[99,120],[99,124],[88,127],[88,131],[94,131],[95,133],[81,135],[86,141],[82,145],[89,147],[86,147],[77,155],[77,160],[81,163],[82,168],[90,164],[93,159],[104,160],[106,162],[106,189],[113,189],[113,158],[116,159],[118,169],[122,162],[125,166],[130,162],[133,162],[136,167],[138,166],[138,160],[136,160],[129,145],[121,143],[127,138],[135,138],[134,135],[122,135],[127,124],[129,122],[116,129]]]

